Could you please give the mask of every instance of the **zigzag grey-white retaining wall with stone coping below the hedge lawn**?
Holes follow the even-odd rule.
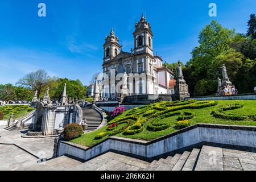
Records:
[[[256,148],[255,141],[256,127],[197,124],[150,142],[110,137],[95,146],[87,148],[60,141],[58,156],[68,154],[76,158],[89,160],[106,151],[118,151],[150,160],[155,156],[201,142]]]

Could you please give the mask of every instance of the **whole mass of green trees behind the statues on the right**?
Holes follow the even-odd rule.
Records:
[[[256,40],[236,34],[213,20],[199,34],[199,46],[184,68],[184,76],[192,95],[216,93],[220,67],[226,65],[228,76],[240,93],[250,93],[256,85]]]

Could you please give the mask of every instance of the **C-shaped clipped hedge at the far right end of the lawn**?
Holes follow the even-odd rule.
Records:
[[[242,115],[242,114],[229,114],[224,112],[226,110],[234,110],[242,107],[243,107],[242,104],[223,105],[218,107],[216,110],[213,110],[211,114],[216,118],[222,118],[222,119],[230,119],[230,120],[237,120],[237,121],[247,121],[247,120],[256,121],[256,114]]]

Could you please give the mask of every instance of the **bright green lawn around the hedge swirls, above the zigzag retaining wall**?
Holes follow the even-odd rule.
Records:
[[[171,102],[167,102],[167,105],[166,104],[162,104],[162,105],[159,104],[159,105],[160,105],[160,107],[162,107],[163,110],[180,107],[180,106],[168,105],[170,103]],[[199,102],[199,101],[195,102],[195,104],[199,104],[199,105],[201,103],[202,102]],[[200,109],[179,109],[179,110],[170,111],[170,112],[166,111],[166,113],[164,113],[164,114],[171,114],[171,113],[180,112],[180,111],[192,113],[193,118],[189,119],[190,125],[195,125],[196,123],[214,123],[214,124],[224,124],[224,125],[256,126],[255,118],[254,119],[251,119],[251,118],[245,119],[243,121],[237,121],[237,120],[234,121],[234,120],[229,120],[229,119],[217,118],[211,114],[213,110],[218,109],[220,106],[230,105],[230,104],[241,104],[241,105],[243,105],[243,107],[239,108],[239,109],[234,109],[234,110],[226,110],[226,111],[224,111],[225,114],[255,115],[255,118],[256,118],[256,101],[217,101],[217,105],[214,105],[214,106],[205,106]],[[187,105],[189,105],[189,104],[187,104]],[[187,106],[187,105],[185,105],[185,106]],[[181,107],[183,107],[183,106],[181,106]],[[142,140],[152,140],[152,139],[159,138],[164,135],[174,133],[175,131],[177,131],[177,128],[175,127],[175,125],[177,123],[177,120],[179,120],[178,119],[179,115],[164,117],[163,114],[159,114],[156,118],[160,118],[160,119],[156,120],[156,118],[151,118],[152,115],[154,115],[154,113],[150,114],[149,110],[152,112],[154,111],[155,113],[161,112],[160,110],[156,109],[156,105],[148,105],[148,106],[142,107],[142,109],[133,109],[133,110],[125,111],[125,113],[118,115],[118,117],[112,119],[112,121],[110,121],[110,123],[111,122],[115,123],[115,121],[118,123],[118,122],[120,122],[120,121],[118,121],[118,119],[128,117],[129,112],[130,112],[130,115],[132,114],[134,117],[137,117],[137,118],[140,118],[143,120],[142,131],[140,131],[136,134],[130,134],[130,135],[127,135],[126,133],[121,132],[119,134],[116,134],[115,136],[125,137],[125,138],[133,138],[133,139],[142,139]],[[143,114],[145,114],[147,112],[149,113],[149,115],[146,117],[143,117]],[[162,118],[161,118],[161,115],[163,115]],[[137,122],[135,120],[136,119],[134,119],[134,123]],[[156,125],[159,125],[159,124],[161,125],[161,123],[167,123],[168,128],[159,130],[159,131],[150,131],[147,126],[151,125],[152,122],[154,122],[154,121],[157,121]],[[100,134],[101,132],[105,131],[106,133],[111,133],[111,131],[106,130],[108,128],[108,126],[102,127],[100,130],[96,130],[91,133],[84,134],[79,138],[71,140],[71,142],[81,144],[83,146],[88,146],[88,147],[93,146],[94,144],[100,142],[101,140],[108,138],[108,136],[106,136],[101,139],[97,139],[97,140],[94,139],[96,137],[96,135]],[[117,130],[121,128],[121,127],[119,127],[119,128],[118,127],[119,126],[117,126]]]

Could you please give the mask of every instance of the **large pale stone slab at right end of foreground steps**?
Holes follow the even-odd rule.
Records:
[[[203,146],[196,163],[195,171],[224,171],[222,148]]]

